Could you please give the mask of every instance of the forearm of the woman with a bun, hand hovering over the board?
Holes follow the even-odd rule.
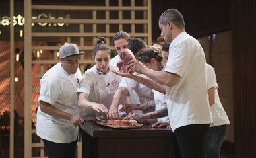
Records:
[[[93,110],[96,110],[96,112],[108,113],[108,109],[106,108],[106,106],[100,103],[90,102],[89,100],[87,100],[87,98],[88,98],[88,95],[86,93],[79,93],[78,106],[80,108],[86,108],[86,109],[92,108]]]

